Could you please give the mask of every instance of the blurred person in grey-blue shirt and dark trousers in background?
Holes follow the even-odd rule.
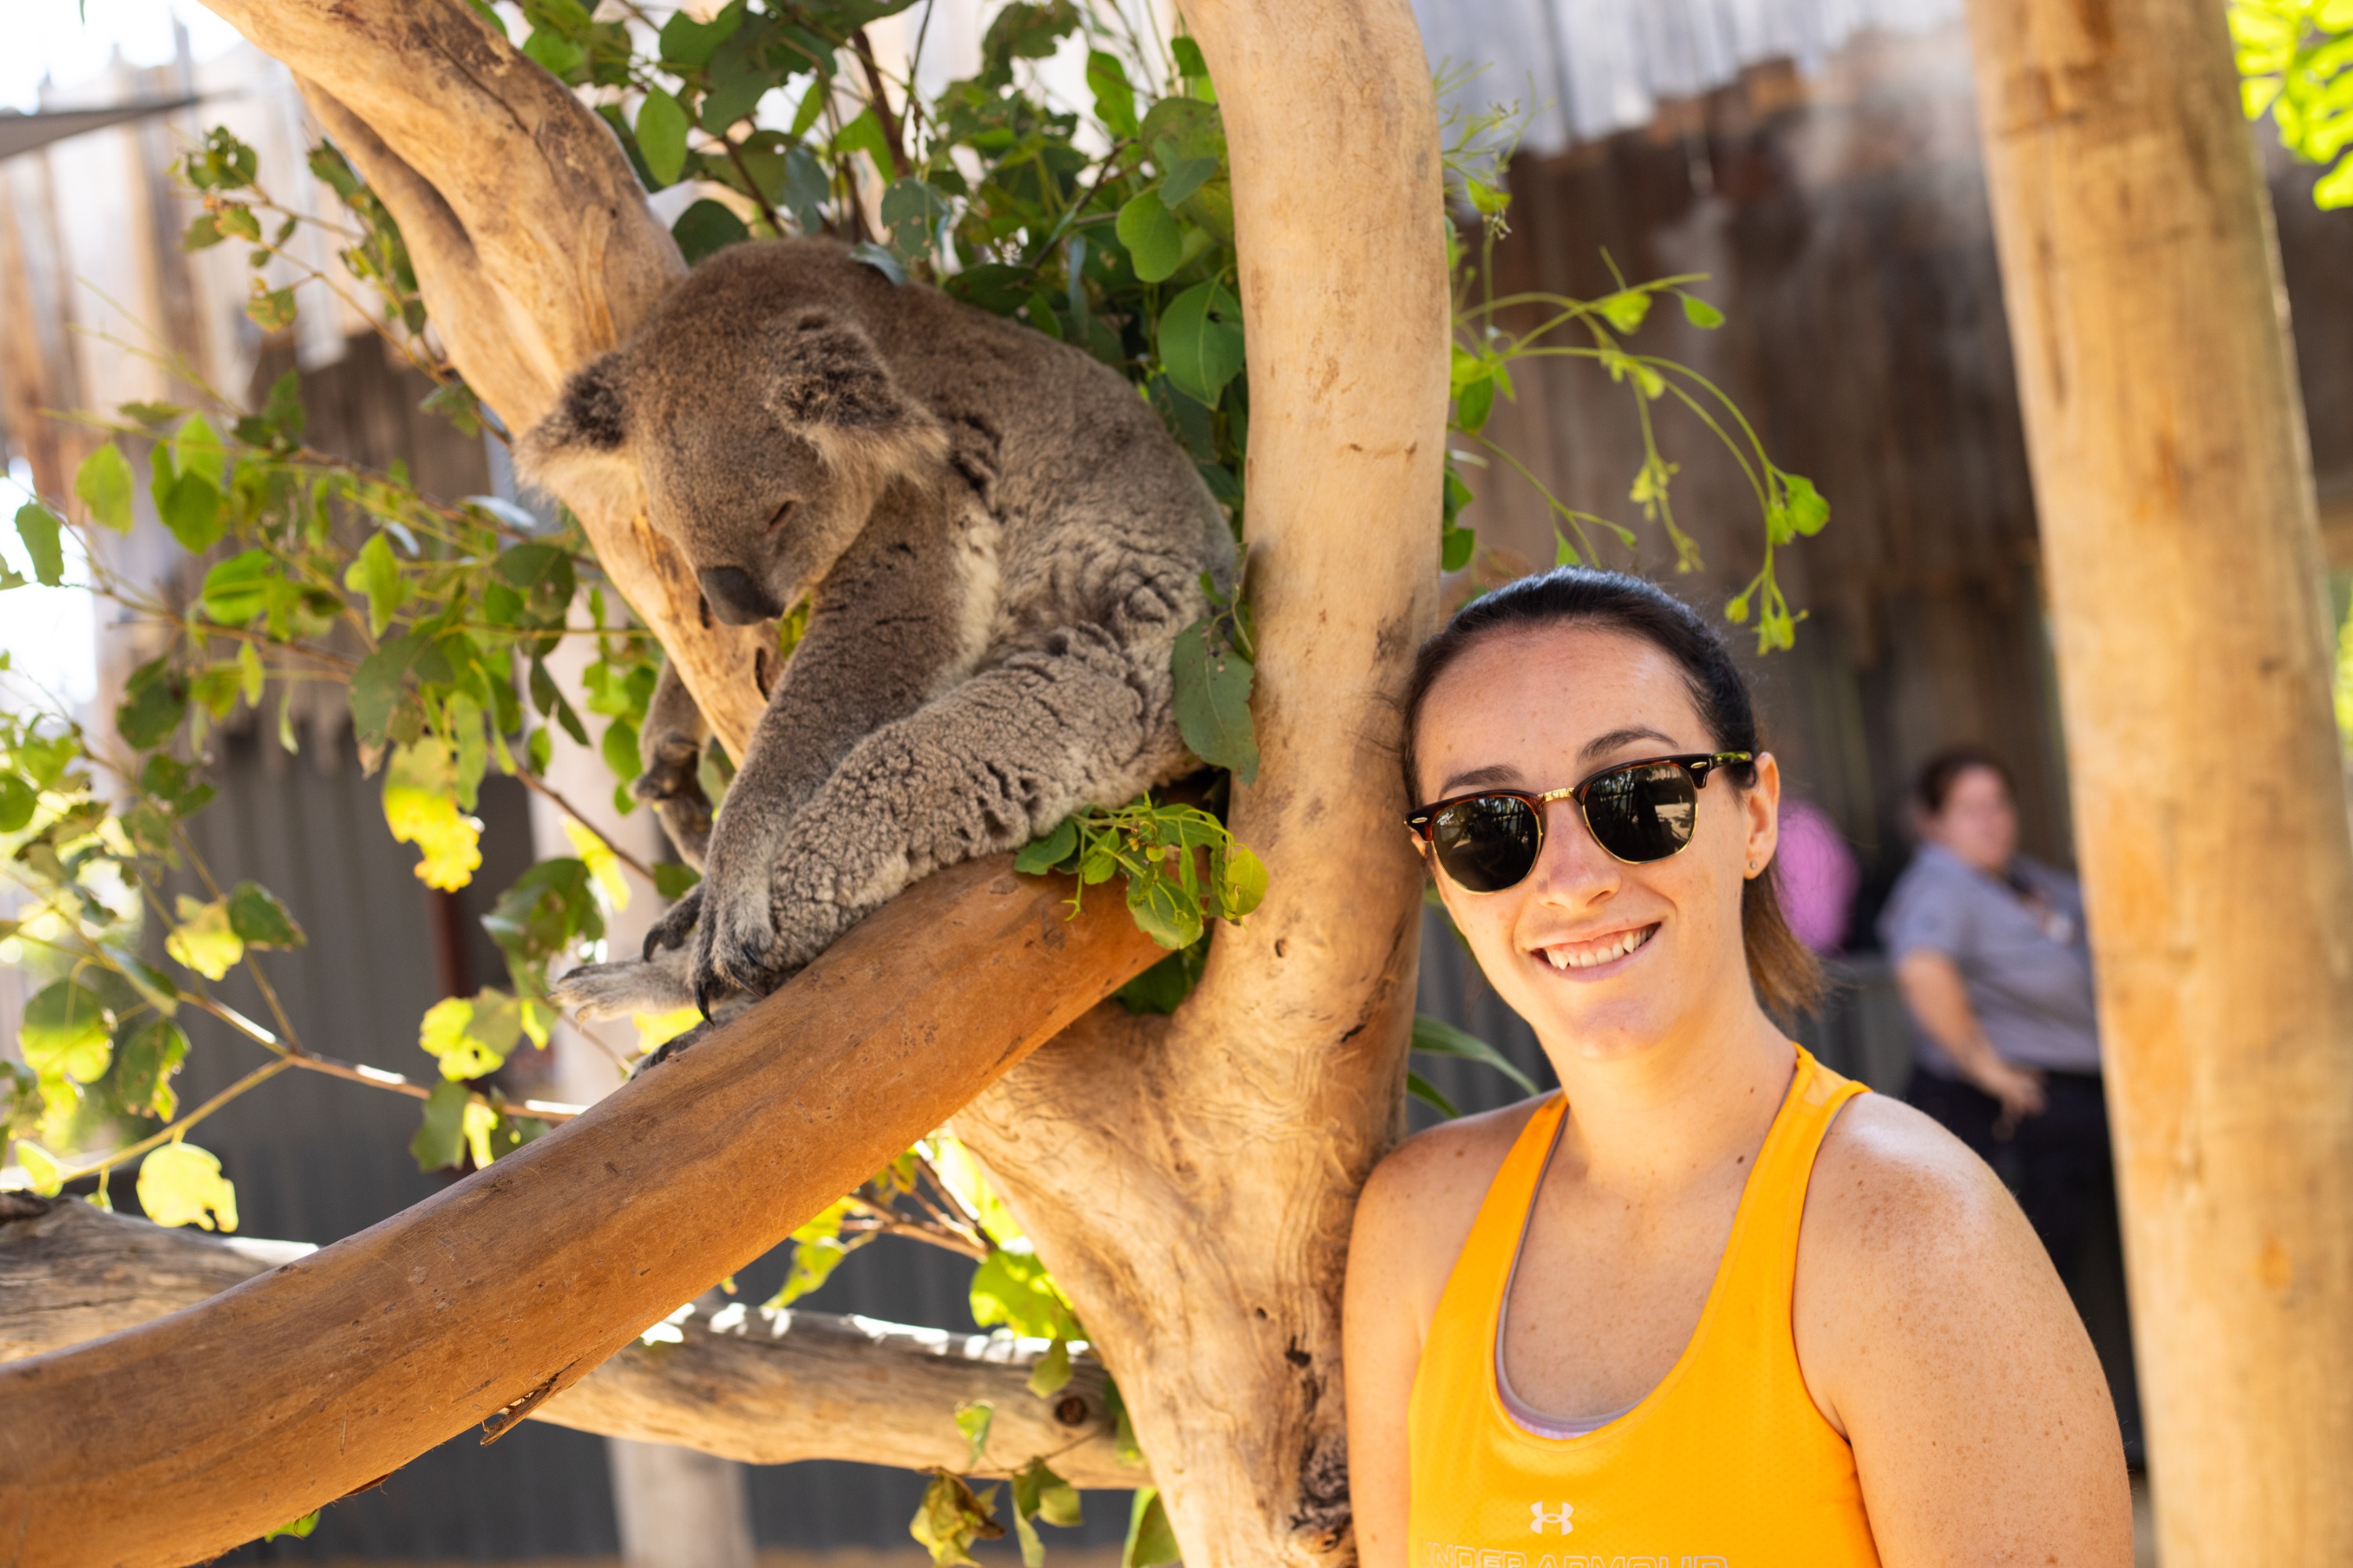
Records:
[[[1920,853],[1880,940],[1913,1018],[1913,1105],[2002,1173],[2068,1272],[2108,1199],[2082,889],[2019,853],[2009,771],[1953,748],[1920,769]]]

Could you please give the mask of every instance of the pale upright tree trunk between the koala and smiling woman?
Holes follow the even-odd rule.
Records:
[[[1353,1554],[1339,1291],[1402,1119],[1421,870],[1398,696],[1435,621],[1438,110],[1405,0],[1188,0],[1249,320],[1266,905],[1174,1020],[1087,1018],[955,1126],[1071,1291],[1191,1568]]]

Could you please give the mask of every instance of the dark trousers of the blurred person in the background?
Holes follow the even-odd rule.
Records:
[[[2092,1229],[2092,1206],[2113,1204],[2108,1173],[2108,1103],[2099,1074],[2045,1072],[2040,1117],[1995,1138],[2002,1103],[1977,1084],[1913,1072],[1904,1095],[1969,1145],[2017,1194],[2059,1274],[2073,1279]]]

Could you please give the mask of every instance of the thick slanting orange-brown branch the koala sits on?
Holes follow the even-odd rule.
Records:
[[[0,1366],[9,1561],[176,1568],[574,1387],[1160,957],[1115,900],[1066,919],[1066,898],[1002,856],[939,872],[447,1192]]]

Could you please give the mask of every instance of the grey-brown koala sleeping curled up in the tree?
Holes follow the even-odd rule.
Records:
[[[918,877],[1181,776],[1169,654],[1233,536],[1113,369],[824,240],[739,244],[572,376],[518,449],[645,487],[722,621],[809,602],[711,818],[704,719],[664,675],[638,792],[704,882],[584,1016],[774,990]]]

